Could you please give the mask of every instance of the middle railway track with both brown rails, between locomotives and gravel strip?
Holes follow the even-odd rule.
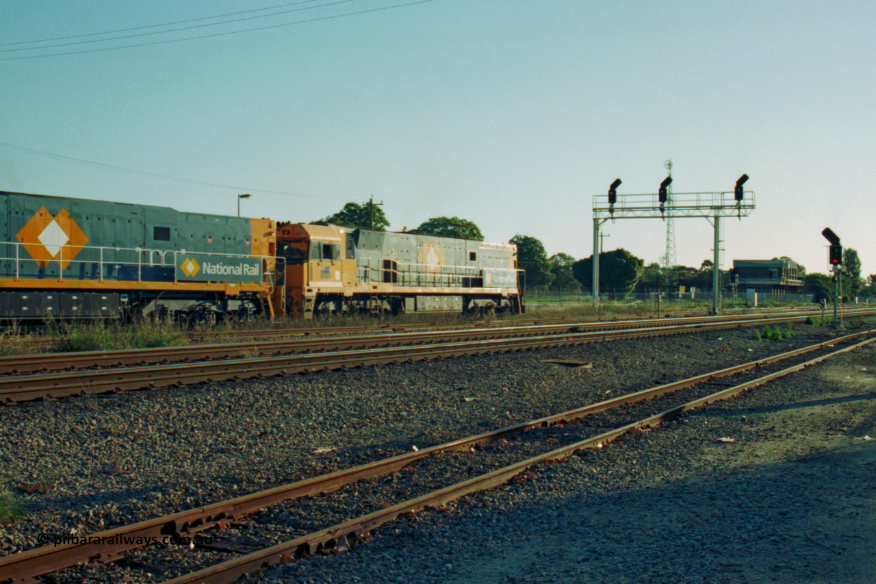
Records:
[[[756,323],[783,324],[799,316],[759,318]],[[639,321],[646,323],[647,321]],[[618,324],[622,326],[623,324]],[[0,377],[0,402],[14,403],[37,399],[57,399],[71,395],[92,395],[142,388],[167,388],[191,385],[208,381],[251,379],[273,375],[314,373],[317,371],[369,367],[404,361],[455,358],[486,353],[505,353],[562,345],[580,345],[624,338],[646,338],[661,335],[685,334],[699,331],[720,331],[741,326],[751,326],[751,319],[696,319],[685,324],[663,324],[640,328],[613,328],[607,331],[560,331],[539,327],[511,327],[506,331],[493,330],[490,338],[478,338],[473,331],[449,333],[405,333],[399,336],[378,338],[330,339],[321,348],[335,347],[341,343],[342,350],[322,350],[317,353],[296,353],[267,357],[236,357],[232,351],[258,351],[252,345],[230,350],[224,345],[215,346],[230,359],[174,362],[159,365],[129,365],[95,370],[76,370],[60,373],[7,375]],[[579,325],[580,326],[580,325]],[[578,327],[573,327],[578,328]],[[502,333],[498,334],[497,333]],[[474,334],[474,336],[472,336]],[[442,337],[449,335],[449,337]],[[442,342],[426,342],[435,337]],[[495,338],[496,336],[506,338]],[[354,346],[355,345],[355,346]],[[352,348],[350,348],[352,347]],[[143,354],[142,352],[140,354]],[[173,350],[151,350],[148,354],[160,356]],[[113,357],[115,359],[115,357]],[[160,360],[160,357],[158,358]],[[167,359],[170,360],[170,359]]]

